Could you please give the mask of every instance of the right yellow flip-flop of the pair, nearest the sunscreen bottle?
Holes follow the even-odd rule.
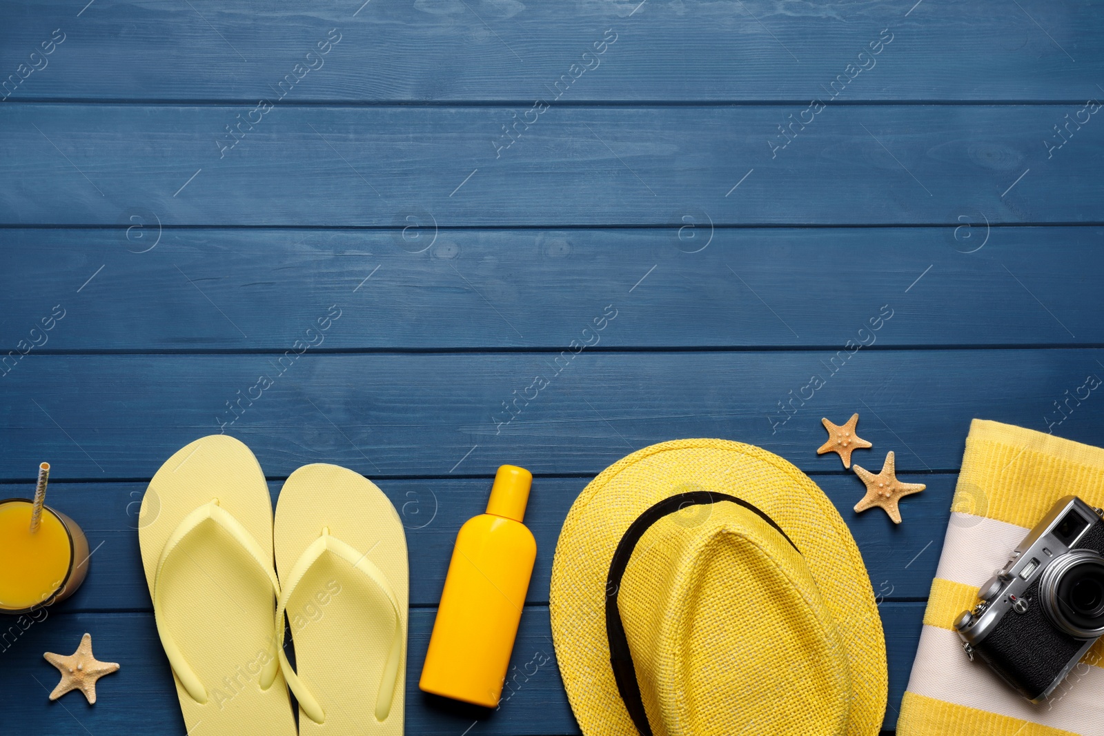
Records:
[[[401,736],[410,570],[399,513],[374,483],[331,465],[293,472],[273,529],[298,674],[302,736]]]

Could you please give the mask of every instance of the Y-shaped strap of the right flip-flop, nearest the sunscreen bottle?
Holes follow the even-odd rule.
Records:
[[[375,584],[380,590],[388,597],[391,602],[392,611],[395,616],[395,630],[391,638],[391,649],[388,653],[388,660],[383,665],[383,675],[380,678],[380,690],[375,697],[375,719],[383,722],[386,719],[388,714],[391,712],[391,703],[394,698],[395,693],[395,682],[399,678],[399,665],[402,663],[403,658],[403,619],[400,614],[399,600],[395,598],[395,593],[388,583],[386,576],[383,572],[375,566],[370,559],[368,559],[367,553],[361,553],[349,546],[341,540],[331,536],[328,529],[322,530],[321,536],[315,540],[310,546],[304,550],[299,559],[296,561],[295,566],[291,568],[291,574],[285,578],[284,591],[279,597],[279,605],[276,607],[276,630],[279,640],[284,639],[284,611],[287,608],[288,600],[295,594],[296,587],[302,582],[304,576],[306,576],[307,570],[321,558],[322,554],[330,552],[338,557],[341,557],[347,563],[352,565],[355,569],[360,570],[368,579]],[[294,636],[294,634],[293,634]],[[284,653],[284,649],[277,650],[279,657],[280,668],[284,671],[284,679],[287,681],[288,687],[295,693],[296,700],[299,701],[299,707],[304,713],[307,714],[311,721],[317,724],[322,724],[326,722],[326,712],[322,710],[321,705],[318,704],[318,700],[315,697],[314,693],[310,692],[304,682],[296,674],[295,670],[291,668],[290,662],[287,661],[287,655]]]

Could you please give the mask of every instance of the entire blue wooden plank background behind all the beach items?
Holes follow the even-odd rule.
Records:
[[[416,689],[502,462],[537,476],[519,666],[604,467],[705,436],[809,472],[881,600],[892,730],[969,420],[1104,441],[1104,397],[1055,406],[1104,376],[1089,0],[85,2],[0,2],[0,498],[49,460],[95,548],[0,631],[6,734],[183,734],[135,527],[202,435],[274,499],[312,461],[379,482],[406,728],[452,736],[578,733],[551,663],[479,719]],[[860,465],[928,486],[900,526],[815,454],[852,412]],[[42,652],[84,631],[123,669],[51,704]]]

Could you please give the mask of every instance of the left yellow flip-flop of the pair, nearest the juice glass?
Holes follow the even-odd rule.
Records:
[[[189,736],[296,736],[273,620],[272,500],[250,448],[212,435],[169,458],[142,497],[138,540]]]

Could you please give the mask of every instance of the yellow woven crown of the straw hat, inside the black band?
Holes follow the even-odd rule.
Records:
[[[754,512],[719,501],[657,521],[618,609],[655,736],[846,730],[835,619],[802,554]]]

